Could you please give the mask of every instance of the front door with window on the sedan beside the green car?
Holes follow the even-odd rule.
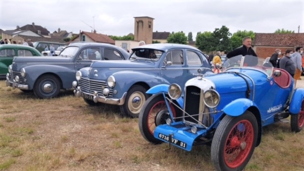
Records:
[[[91,66],[93,61],[98,60],[98,54],[101,54],[98,47],[82,49],[75,57],[75,70]]]

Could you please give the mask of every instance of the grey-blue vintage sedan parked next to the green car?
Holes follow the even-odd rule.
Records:
[[[75,80],[75,73],[78,70],[90,66],[93,61],[106,60],[105,52],[111,51],[119,54],[115,60],[126,60],[129,57],[129,53],[122,48],[95,42],[71,44],[64,48],[59,56],[15,57],[13,65],[11,65],[11,72],[7,74],[7,86],[23,91],[33,90],[40,98],[55,97],[58,95],[58,90],[72,88],[72,81]],[[25,70],[24,76],[21,74],[22,70]],[[44,75],[53,75],[59,80],[58,85],[56,85],[58,82],[52,81],[52,79],[42,82],[41,86],[51,85],[53,90],[50,92],[36,85],[37,80]]]

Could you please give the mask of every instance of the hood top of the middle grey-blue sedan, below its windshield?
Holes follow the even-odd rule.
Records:
[[[155,62],[153,61],[130,61],[130,60],[122,60],[122,61],[96,61],[92,63],[92,68],[151,68],[155,67]]]

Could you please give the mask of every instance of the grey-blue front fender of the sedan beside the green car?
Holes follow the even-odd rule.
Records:
[[[60,78],[60,81],[62,81],[63,89],[72,88],[72,81],[76,80],[75,70],[69,67],[56,65],[30,65],[24,67],[24,69],[29,90],[33,89],[37,78],[46,73],[57,75]]]

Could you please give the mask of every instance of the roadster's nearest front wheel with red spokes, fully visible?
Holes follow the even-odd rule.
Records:
[[[258,125],[251,112],[224,116],[211,144],[211,160],[216,170],[242,170],[253,154],[257,136]],[[231,158],[232,161],[227,161]]]

